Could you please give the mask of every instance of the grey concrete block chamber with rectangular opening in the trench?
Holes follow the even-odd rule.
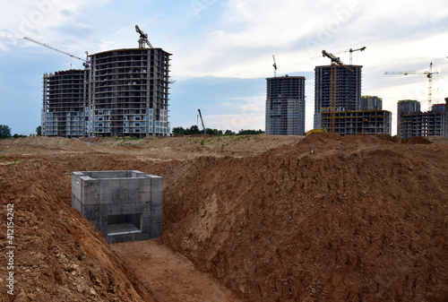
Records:
[[[140,171],[72,172],[72,207],[108,243],[160,237],[163,178]]]

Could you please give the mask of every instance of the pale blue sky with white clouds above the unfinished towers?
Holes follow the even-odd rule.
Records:
[[[448,9],[444,0],[14,0],[0,12],[0,125],[35,134],[43,73],[82,69],[85,57],[138,47],[135,25],[171,56],[171,127],[262,129],[266,78],[306,77],[306,130],[313,128],[314,66],[322,50],[353,52],[363,65],[362,95],[383,98],[396,134],[397,101],[427,108],[425,74],[433,63],[433,104],[448,97]],[[340,60],[349,64],[349,52]]]

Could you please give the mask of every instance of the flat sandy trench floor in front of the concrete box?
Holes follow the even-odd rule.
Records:
[[[159,302],[243,301],[211,274],[198,271],[185,256],[157,239],[111,247]]]

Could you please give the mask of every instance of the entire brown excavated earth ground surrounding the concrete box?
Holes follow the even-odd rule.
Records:
[[[71,172],[124,169],[163,177],[162,237],[71,208]],[[2,140],[0,299],[447,301],[447,179],[444,137]]]

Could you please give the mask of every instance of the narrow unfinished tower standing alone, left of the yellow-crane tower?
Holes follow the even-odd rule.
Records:
[[[285,75],[266,81],[266,134],[304,134],[305,77]]]

